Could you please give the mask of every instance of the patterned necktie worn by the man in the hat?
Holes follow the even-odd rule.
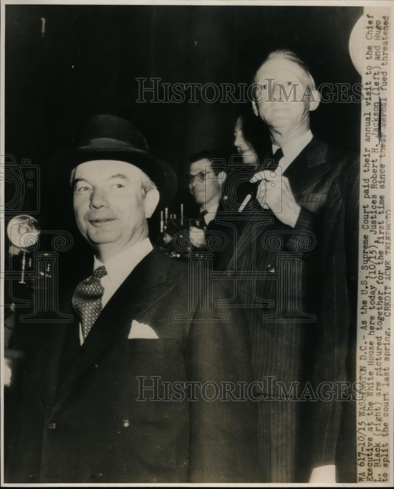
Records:
[[[107,270],[104,265],[96,268],[90,277],[78,285],[71,299],[72,307],[81,319],[84,339],[88,336],[91,327],[103,309],[101,298],[104,287],[101,285],[100,279],[105,275],[107,275]]]

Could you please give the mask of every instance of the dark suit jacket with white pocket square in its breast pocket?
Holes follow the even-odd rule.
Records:
[[[177,400],[171,388],[166,394],[163,382],[251,379],[241,312],[219,309],[227,321],[210,322],[209,311],[189,311],[190,290],[188,267],[153,250],[109,300],[82,347],[78,318],[40,325],[19,432],[7,441],[13,446],[7,482],[254,480],[256,405],[209,402],[198,389],[188,401],[179,386]],[[188,311],[189,320],[174,322]],[[128,339],[134,319],[158,339]],[[154,382],[158,392],[142,389]],[[207,396],[215,397],[209,389]]]

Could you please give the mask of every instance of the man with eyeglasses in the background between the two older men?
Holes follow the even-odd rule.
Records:
[[[198,249],[206,247],[208,234],[217,229],[215,217],[221,200],[221,187],[225,179],[223,157],[217,151],[201,151],[189,159],[187,176],[189,191],[199,205],[196,225],[190,226],[190,236]]]

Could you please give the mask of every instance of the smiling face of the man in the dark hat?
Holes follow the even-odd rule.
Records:
[[[99,251],[119,252],[148,234],[144,174],[125,161],[81,163],[73,176],[74,214],[81,234]]]

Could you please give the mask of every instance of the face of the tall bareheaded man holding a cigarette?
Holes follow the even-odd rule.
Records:
[[[309,111],[318,105],[310,103],[309,97],[305,96],[309,93],[306,92],[308,84],[311,90],[314,89],[310,80],[302,67],[285,57],[266,61],[256,73],[255,83],[262,87],[256,91],[253,111],[269,128],[284,130],[292,127],[307,131]],[[314,95],[316,98],[316,92]]]

